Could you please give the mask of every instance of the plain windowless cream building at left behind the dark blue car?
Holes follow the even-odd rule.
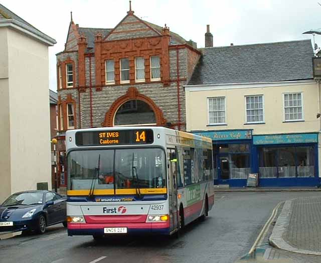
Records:
[[[0,203],[51,189],[48,47],[55,40],[0,5]]]

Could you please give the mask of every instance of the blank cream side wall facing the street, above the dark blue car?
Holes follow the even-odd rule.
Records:
[[[8,30],[11,191],[51,189],[48,46]]]

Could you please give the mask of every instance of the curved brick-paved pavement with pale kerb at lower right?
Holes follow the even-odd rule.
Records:
[[[287,200],[269,242],[289,252],[321,256],[320,218],[321,196]]]

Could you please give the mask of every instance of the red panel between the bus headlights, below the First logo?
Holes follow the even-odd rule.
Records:
[[[87,223],[144,223],[146,214],[85,215]]]

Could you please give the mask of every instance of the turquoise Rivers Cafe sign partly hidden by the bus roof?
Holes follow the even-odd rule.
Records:
[[[211,138],[213,141],[252,139],[252,130],[204,131],[193,133]]]

